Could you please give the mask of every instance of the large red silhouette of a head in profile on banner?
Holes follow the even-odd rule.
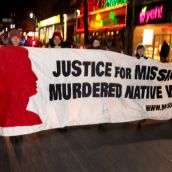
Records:
[[[0,47],[0,126],[41,124],[39,116],[27,111],[29,97],[36,94],[37,77],[31,68],[28,50]]]

